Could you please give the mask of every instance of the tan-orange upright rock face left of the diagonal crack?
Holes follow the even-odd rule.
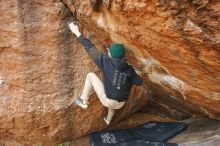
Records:
[[[107,109],[95,94],[87,111],[71,105],[86,74],[101,74],[67,27],[69,9],[44,0],[0,5],[0,143],[56,143],[106,127]],[[115,122],[143,107],[146,97],[134,87]]]

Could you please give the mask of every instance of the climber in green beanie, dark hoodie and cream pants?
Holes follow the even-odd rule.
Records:
[[[79,27],[73,22],[69,24],[69,28],[79,38],[86,52],[103,72],[103,83],[95,73],[87,74],[82,94],[74,103],[86,110],[89,93],[93,87],[100,102],[108,108],[104,121],[109,125],[115,110],[122,108],[127,101],[132,85],[142,85],[142,79],[126,62],[125,48],[122,44],[113,44],[107,49],[108,55],[105,55],[80,33]]]

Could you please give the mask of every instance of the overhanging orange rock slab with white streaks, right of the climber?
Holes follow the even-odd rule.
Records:
[[[152,97],[145,111],[220,119],[219,1],[66,4],[104,46],[109,40],[126,46],[127,60],[142,73]]]

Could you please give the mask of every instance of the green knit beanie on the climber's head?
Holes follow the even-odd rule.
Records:
[[[125,56],[125,48],[122,44],[113,44],[109,52],[112,58],[122,59]]]

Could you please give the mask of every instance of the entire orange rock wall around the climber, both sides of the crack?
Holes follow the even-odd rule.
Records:
[[[101,76],[70,33],[72,20],[103,52],[113,42],[123,43],[127,60],[144,80],[113,122],[143,106],[174,119],[220,119],[218,0],[0,4],[1,141],[56,143],[105,127],[107,111],[95,94],[88,111],[71,105],[88,72]]]

